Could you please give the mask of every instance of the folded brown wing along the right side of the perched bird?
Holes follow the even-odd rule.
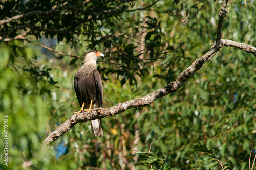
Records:
[[[103,107],[103,85],[102,85],[102,80],[101,76],[99,74],[98,70],[93,70],[93,75],[94,75],[94,81],[95,81],[95,87],[96,87],[96,95],[98,98],[99,102],[99,107]]]

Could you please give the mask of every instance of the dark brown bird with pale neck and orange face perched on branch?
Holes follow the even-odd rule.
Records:
[[[74,114],[82,112],[83,109],[89,112],[94,108],[103,107],[103,85],[96,64],[99,57],[104,57],[104,54],[98,50],[90,50],[84,53],[83,65],[74,77],[74,89],[81,109],[74,112]],[[101,125],[101,118],[91,120],[94,136],[103,136]]]

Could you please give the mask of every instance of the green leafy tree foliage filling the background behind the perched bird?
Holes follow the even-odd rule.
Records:
[[[8,115],[9,138],[8,166],[1,162],[1,168],[19,169],[31,160],[35,169],[135,169],[142,158],[135,151],[148,152],[156,137],[151,152],[176,169],[198,166],[202,153],[191,152],[196,144],[215,149],[231,169],[248,169],[256,140],[256,61],[231,47],[176,93],[104,118],[103,138],[92,136],[89,123],[77,124],[47,156],[40,151],[79,108],[73,78],[84,52],[105,54],[98,64],[105,107],[145,96],[176,80],[214,45],[221,6],[190,0],[1,2],[0,111]],[[255,2],[230,2],[227,9],[222,36],[255,46]]]

